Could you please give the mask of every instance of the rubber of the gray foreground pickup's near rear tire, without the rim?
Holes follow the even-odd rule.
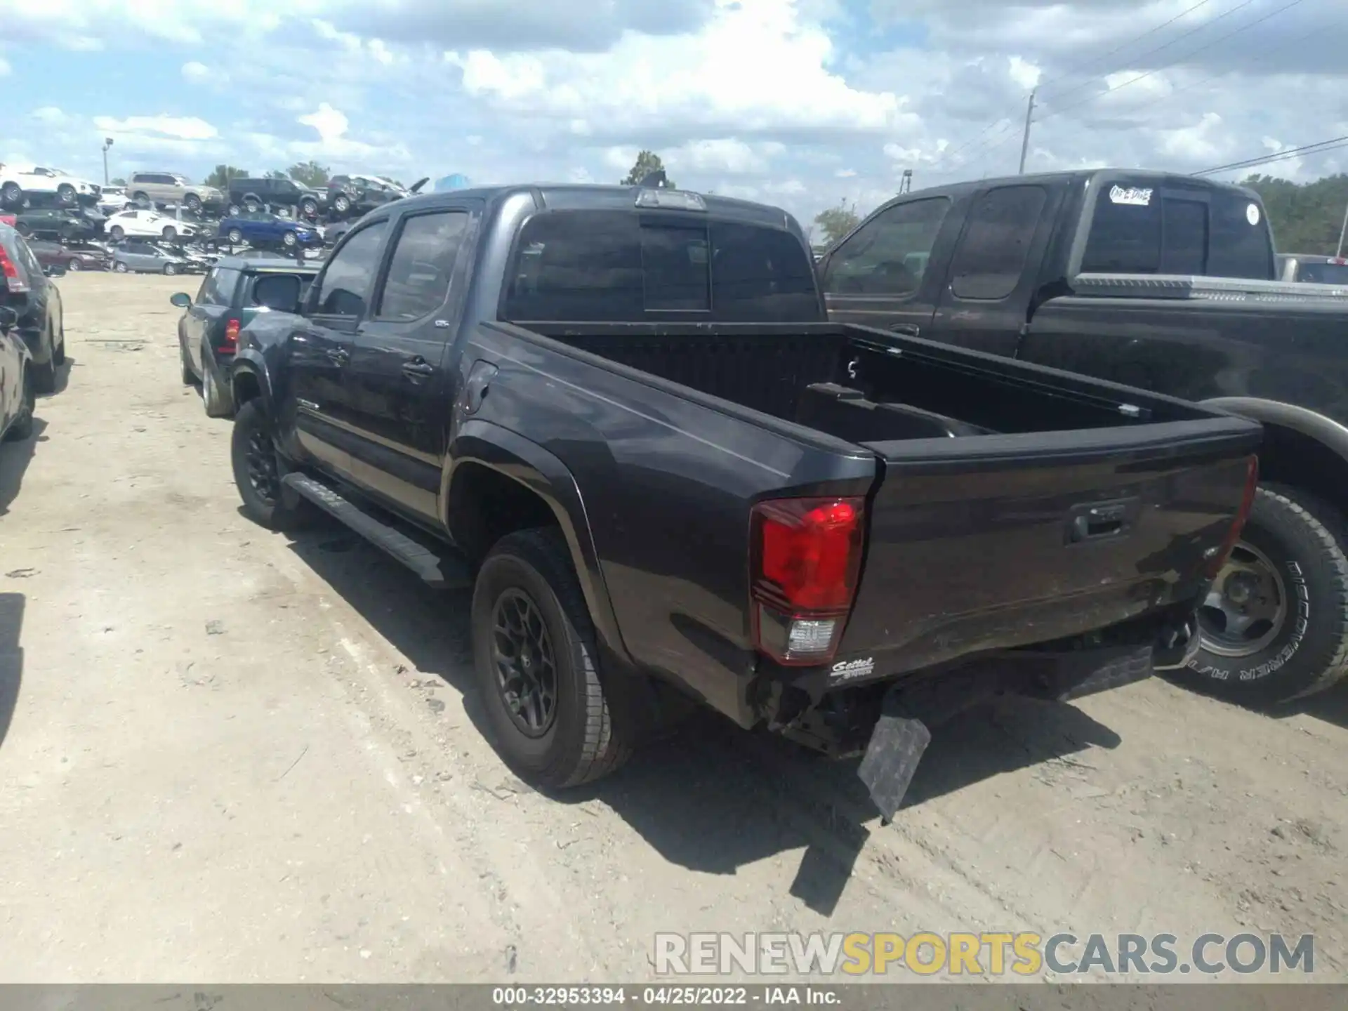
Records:
[[[538,608],[553,646],[555,716],[530,737],[510,716],[492,661],[496,603],[523,590]],[[473,662],[497,751],[522,778],[561,790],[600,779],[623,766],[634,741],[615,718],[599,675],[599,647],[585,596],[557,530],[522,530],[488,553],[473,585]]]

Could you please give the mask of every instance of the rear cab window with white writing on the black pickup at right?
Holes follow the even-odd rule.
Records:
[[[1237,190],[1105,178],[1081,272],[1273,280],[1273,235],[1259,204]]]

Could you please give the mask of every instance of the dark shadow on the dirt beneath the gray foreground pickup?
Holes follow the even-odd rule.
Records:
[[[306,532],[291,550],[418,670],[461,692],[474,728],[485,732],[466,592],[427,589],[336,524]],[[996,700],[934,729],[905,809],[1002,772],[1050,759],[1070,762],[1074,752],[1119,743],[1116,733],[1072,705]],[[902,830],[903,811],[899,824],[879,826],[856,768],[856,760],[830,762],[698,712],[671,736],[643,748],[621,772],[551,797],[612,807],[666,860],[704,874],[733,875],[803,848],[790,892],[830,915],[871,834]]]

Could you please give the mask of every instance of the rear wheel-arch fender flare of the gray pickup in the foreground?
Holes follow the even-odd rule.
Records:
[[[449,489],[456,470],[464,464],[480,464],[538,495],[557,516],[576,576],[585,594],[594,630],[604,646],[628,667],[635,666],[623,644],[613,604],[600,568],[599,551],[576,477],[566,464],[537,442],[481,419],[469,419],[458,429],[449,449],[449,464],[441,476],[441,523],[449,528]]]

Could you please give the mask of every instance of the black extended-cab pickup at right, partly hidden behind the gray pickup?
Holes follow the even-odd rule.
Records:
[[[905,194],[821,260],[829,315],[1263,422],[1244,537],[1180,679],[1233,701],[1348,662],[1348,299],[1275,280],[1254,193],[1097,170]]]

